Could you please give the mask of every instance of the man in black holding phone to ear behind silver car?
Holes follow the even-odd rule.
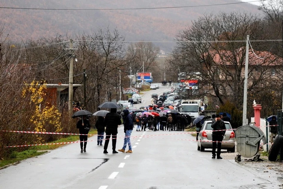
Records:
[[[222,159],[220,156],[221,153],[221,143],[223,140],[223,136],[226,131],[218,131],[218,130],[225,130],[225,123],[221,120],[219,114],[216,114],[215,121],[212,122],[211,127],[213,128],[212,131],[212,159],[215,159],[215,151],[217,145],[217,159]],[[217,144],[216,144],[217,143]]]

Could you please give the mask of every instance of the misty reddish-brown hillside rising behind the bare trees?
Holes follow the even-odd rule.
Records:
[[[51,9],[113,9],[195,6],[240,2],[238,0],[6,0],[3,7],[51,8]],[[260,13],[252,4],[203,6],[194,8],[147,9],[147,10],[22,10],[0,9],[1,25],[5,24],[10,38],[14,40],[37,39],[40,37],[91,34],[98,27],[117,27],[131,41],[172,41],[192,20],[205,13],[219,11],[247,11]]]

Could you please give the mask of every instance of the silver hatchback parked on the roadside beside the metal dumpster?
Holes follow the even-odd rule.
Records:
[[[212,148],[212,121],[205,121],[198,135],[198,150],[203,152],[205,148]],[[235,152],[235,133],[228,121],[224,121],[226,129],[221,149],[226,149],[228,152]]]

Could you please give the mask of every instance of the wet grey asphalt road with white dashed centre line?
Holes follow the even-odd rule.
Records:
[[[160,84],[154,93],[168,88]],[[152,93],[144,93],[138,106],[149,105]],[[123,145],[123,128],[118,132],[116,150]],[[275,179],[233,160],[211,159],[211,151],[197,151],[196,142],[189,141],[194,139],[180,131],[134,129],[130,154],[112,154],[111,141],[108,154],[96,141],[88,143],[87,153],[80,153],[78,143],[65,145],[0,170],[0,188],[278,188]]]

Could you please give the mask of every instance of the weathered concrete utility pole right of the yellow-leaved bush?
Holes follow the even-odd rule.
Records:
[[[68,99],[68,110],[69,114],[72,115],[73,113],[73,40],[70,40],[70,69],[69,69],[69,99]]]

